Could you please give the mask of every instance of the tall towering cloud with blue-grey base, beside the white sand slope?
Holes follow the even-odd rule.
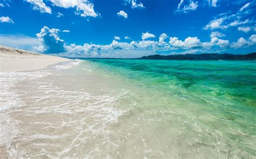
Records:
[[[42,42],[45,53],[63,53],[65,52],[64,40],[59,38],[60,30],[44,26],[40,33],[37,33],[37,38]],[[42,48],[42,47],[41,47]]]

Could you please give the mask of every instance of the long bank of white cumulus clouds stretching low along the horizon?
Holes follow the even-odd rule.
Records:
[[[43,27],[37,34],[40,44],[33,47],[44,53],[56,53],[60,56],[79,56],[79,57],[139,57],[144,55],[156,54],[159,52],[173,52],[178,50],[182,53],[216,53],[230,47],[228,40],[219,39],[225,35],[220,32],[211,33],[211,41],[201,42],[198,37],[187,37],[179,40],[177,37],[170,37],[163,33],[159,36],[158,41],[147,40],[156,37],[149,32],[142,34],[142,41],[120,42],[120,37],[114,37],[109,45],[96,44],[65,44],[64,40],[59,38],[60,30],[56,28]],[[125,38],[127,39],[127,38]],[[165,40],[169,39],[169,42]],[[237,42],[232,43],[233,48],[247,47],[256,44],[256,34],[245,40],[240,38]]]

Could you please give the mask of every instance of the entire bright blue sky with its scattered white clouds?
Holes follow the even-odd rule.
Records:
[[[256,52],[256,0],[0,0],[0,45],[70,57]]]

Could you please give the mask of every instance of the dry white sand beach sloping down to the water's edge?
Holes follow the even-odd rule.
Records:
[[[49,56],[0,45],[0,72],[43,69],[51,64],[69,61],[62,57]]]

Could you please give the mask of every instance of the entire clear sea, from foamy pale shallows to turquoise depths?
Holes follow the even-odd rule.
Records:
[[[1,83],[9,157],[256,157],[254,61],[73,61]]]

